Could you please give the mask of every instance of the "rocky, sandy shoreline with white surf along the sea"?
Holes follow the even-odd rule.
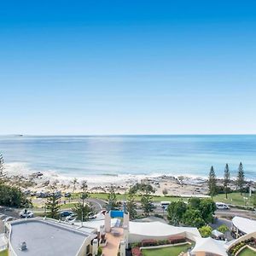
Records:
[[[12,165],[10,165],[12,166]],[[116,189],[117,193],[124,194],[135,183],[148,183],[154,189],[154,195],[163,195],[163,191],[167,195],[207,195],[208,186],[206,177],[198,177],[195,175],[162,175],[160,173],[148,175],[88,175],[84,177],[76,177],[78,183],[76,189],[73,189],[74,177],[60,175],[55,172],[29,172],[27,170],[10,170],[9,164],[6,164],[6,172],[11,182],[21,189],[29,189],[31,191],[49,191],[50,186],[55,184],[57,190],[65,192],[79,192],[80,183],[87,181],[89,192],[106,193],[111,185]],[[219,184],[222,183],[221,178],[217,177]],[[251,181],[250,183],[254,183]],[[230,188],[235,189],[235,180],[230,181]]]

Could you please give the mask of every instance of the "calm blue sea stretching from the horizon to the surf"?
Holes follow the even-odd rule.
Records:
[[[56,172],[69,177],[91,175],[189,175],[207,177],[224,166],[236,177],[241,161],[246,177],[256,180],[256,136],[65,136],[0,137],[9,168]]]

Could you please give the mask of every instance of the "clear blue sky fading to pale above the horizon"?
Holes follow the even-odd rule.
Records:
[[[5,2],[0,134],[255,133],[255,1]]]

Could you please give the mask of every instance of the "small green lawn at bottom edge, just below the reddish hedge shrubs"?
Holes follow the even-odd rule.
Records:
[[[143,249],[143,256],[177,256],[179,253],[187,252],[189,247],[189,244],[185,244],[182,246],[165,247],[160,249]]]

